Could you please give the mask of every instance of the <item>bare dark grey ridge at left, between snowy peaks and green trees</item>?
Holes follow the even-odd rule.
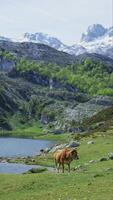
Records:
[[[10,59],[11,56],[16,59],[23,57],[31,61],[44,61],[45,63],[56,63],[62,66],[75,62],[73,55],[38,43],[0,41],[0,51],[0,68],[4,70],[10,69],[15,65],[14,59]],[[10,55],[7,55],[7,52],[10,52]],[[6,55],[3,57],[2,54],[4,53]]]

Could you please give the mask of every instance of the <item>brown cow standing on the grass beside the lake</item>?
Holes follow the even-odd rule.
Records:
[[[62,166],[62,172],[64,173],[64,164],[68,165],[68,171],[70,172],[70,163],[77,159],[79,159],[79,157],[76,149],[65,148],[57,150],[54,153],[55,165],[58,172],[60,170],[60,166]]]

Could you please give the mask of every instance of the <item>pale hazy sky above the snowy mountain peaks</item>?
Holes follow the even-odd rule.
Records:
[[[112,1],[0,0],[0,35],[43,32],[73,44],[89,25],[112,26]]]

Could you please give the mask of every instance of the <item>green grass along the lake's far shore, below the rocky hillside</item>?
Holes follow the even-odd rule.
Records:
[[[0,136],[2,137],[23,137],[33,139],[47,139],[57,141],[69,141],[70,134],[48,134],[47,127],[41,124],[39,121],[30,120],[24,124],[20,123],[22,118],[19,114],[15,114],[13,117],[9,116],[9,122],[13,130],[0,130]]]

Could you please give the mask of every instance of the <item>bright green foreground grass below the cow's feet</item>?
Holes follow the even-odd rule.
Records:
[[[106,172],[105,163],[70,174],[0,175],[0,199],[112,200],[113,168]]]

